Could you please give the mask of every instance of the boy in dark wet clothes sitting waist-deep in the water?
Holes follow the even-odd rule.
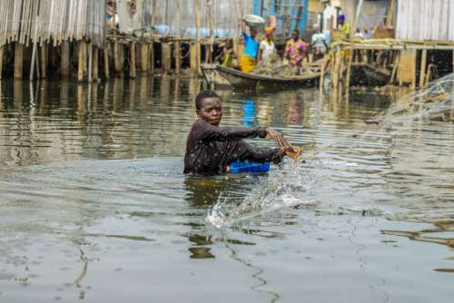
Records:
[[[184,173],[216,174],[226,171],[232,161],[280,162],[294,152],[281,133],[270,128],[224,128],[221,98],[213,91],[195,97],[197,120],[193,122],[186,142]],[[242,141],[247,138],[274,140],[279,148],[256,149]]]

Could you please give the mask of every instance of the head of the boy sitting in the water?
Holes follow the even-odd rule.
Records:
[[[195,112],[204,121],[219,125],[222,119],[221,98],[214,91],[202,91],[195,97]]]

